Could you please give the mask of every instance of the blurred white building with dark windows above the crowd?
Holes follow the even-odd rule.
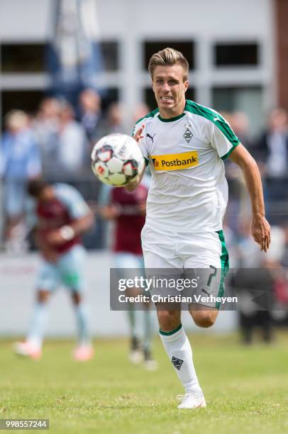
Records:
[[[57,3],[1,1],[3,116],[16,106],[35,112],[50,88],[45,49],[55,40],[60,44]],[[251,135],[264,127],[267,111],[288,108],[287,1],[181,0],[177,9],[172,0],[148,0],[145,6],[138,0],[82,3],[88,8],[82,19],[102,53],[101,65],[94,60],[94,84],[105,90],[104,106],[124,104],[128,121],[140,101],[155,106],[148,59],[165,46],[178,48],[189,60],[188,96],[220,111],[244,111]]]

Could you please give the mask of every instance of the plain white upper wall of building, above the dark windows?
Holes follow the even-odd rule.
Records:
[[[272,36],[272,0],[95,0],[104,37]],[[0,38],[45,40],[52,0],[1,0]]]

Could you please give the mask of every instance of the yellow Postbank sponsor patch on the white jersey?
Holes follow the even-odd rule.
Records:
[[[183,170],[190,167],[198,166],[198,152],[181,152],[179,154],[170,155],[151,155],[154,169],[162,170]]]

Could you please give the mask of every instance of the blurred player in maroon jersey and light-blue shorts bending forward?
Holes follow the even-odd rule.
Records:
[[[31,329],[26,342],[16,343],[15,351],[33,359],[41,357],[48,299],[62,284],[70,289],[77,318],[79,344],[74,350],[74,358],[89,360],[93,348],[82,296],[85,250],[80,235],[91,228],[92,212],[79,192],[67,184],[52,186],[43,179],[35,179],[28,184],[28,194],[33,198],[33,205],[27,221],[33,227],[42,263],[36,279],[37,301]]]

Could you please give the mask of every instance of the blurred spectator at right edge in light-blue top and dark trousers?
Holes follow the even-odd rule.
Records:
[[[284,109],[270,113],[267,130],[257,143],[256,152],[265,165],[265,196],[272,223],[282,223],[288,199],[288,117]]]

